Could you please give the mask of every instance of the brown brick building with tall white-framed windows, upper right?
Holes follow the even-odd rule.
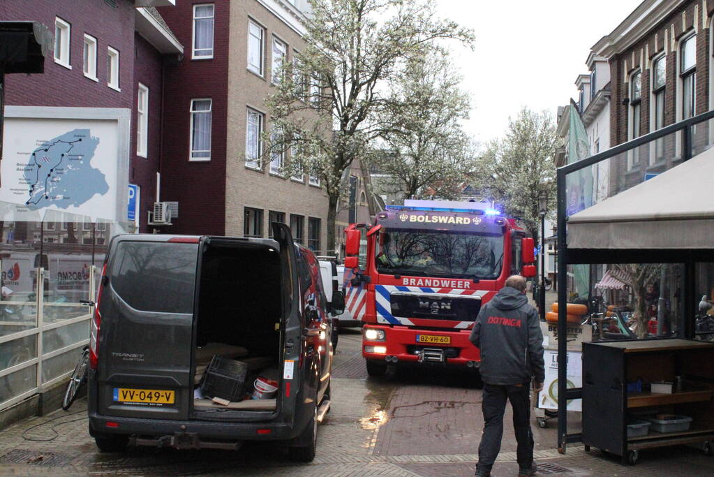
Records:
[[[593,46],[610,64],[610,146],[712,108],[714,1],[645,0]],[[695,148],[711,144],[694,131]],[[610,194],[679,164],[678,136],[665,137],[610,162]]]

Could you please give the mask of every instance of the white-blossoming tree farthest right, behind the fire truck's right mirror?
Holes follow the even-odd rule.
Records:
[[[523,108],[508,120],[503,139],[491,141],[481,156],[484,173],[478,189],[502,204],[506,214],[521,219],[538,243],[538,196],[548,196],[549,215],[555,209],[555,125],[547,111]]]

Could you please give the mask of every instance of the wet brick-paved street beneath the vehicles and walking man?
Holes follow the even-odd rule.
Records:
[[[288,460],[280,446],[247,444],[238,453],[130,448],[100,453],[87,432],[86,404],[31,418],[0,433],[2,475],[289,475],[470,476],[481,439],[481,391],[467,373],[402,372],[366,377],[361,336],[343,330],[334,368],[333,408],[319,428],[310,464]],[[503,446],[494,476],[515,476],[516,442],[506,411]],[[555,423],[553,422],[553,426]],[[563,476],[704,476],[714,459],[695,448],[642,453],[637,466],[582,446],[555,449],[553,426],[533,425],[541,474]],[[674,470],[676,469],[676,471]]]

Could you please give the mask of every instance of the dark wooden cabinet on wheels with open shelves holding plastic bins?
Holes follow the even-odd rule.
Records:
[[[585,450],[599,448],[631,464],[645,448],[702,443],[706,453],[713,453],[713,363],[714,343],[704,341],[583,343]],[[673,384],[671,393],[650,392],[650,383],[663,381],[678,381],[680,387]],[[650,428],[644,435],[628,437],[628,423],[633,419],[643,422],[663,414],[688,416],[690,426],[673,431],[665,427],[664,432]]]

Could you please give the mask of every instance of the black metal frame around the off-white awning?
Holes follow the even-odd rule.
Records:
[[[593,264],[593,263],[683,263],[683,310],[682,323],[680,323],[678,334],[680,338],[694,337],[694,314],[695,303],[695,263],[701,261],[713,261],[714,241],[712,248],[573,248],[568,249],[568,215],[567,215],[567,177],[587,167],[598,164],[602,161],[612,159],[618,154],[631,151],[638,146],[650,144],[657,139],[661,139],[670,134],[680,134],[680,144],[683,161],[691,159],[693,154],[693,134],[692,129],[696,124],[714,119],[714,111],[708,111],[698,116],[685,119],[676,124],[672,124],[658,131],[654,131],[645,136],[628,141],[595,154],[586,159],[574,162],[558,168],[558,303],[567,303],[567,273],[570,264]],[[636,154],[636,151],[635,153]],[[567,307],[558,306],[558,336],[565,336],[567,331]],[[568,372],[567,341],[558,339],[558,451],[565,453],[568,443],[582,441],[581,433],[568,434],[567,405],[571,399],[579,399],[583,396],[583,388],[567,388]]]

